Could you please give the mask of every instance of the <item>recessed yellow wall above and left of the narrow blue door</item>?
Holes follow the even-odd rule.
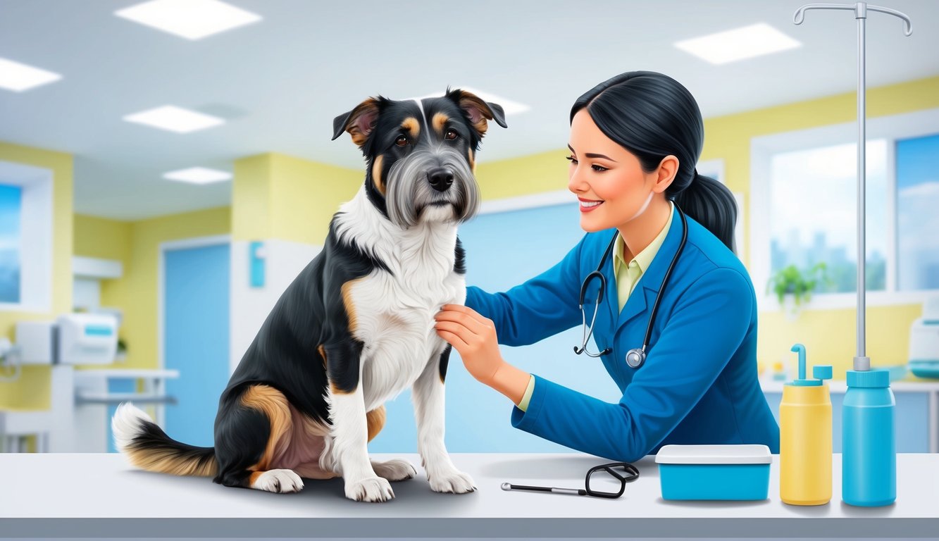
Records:
[[[121,368],[157,368],[157,282],[160,245],[171,240],[227,235],[231,209],[198,210],[139,222],[75,216],[75,255],[120,260],[124,275],[101,283],[101,305],[124,312],[120,336],[127,343]]]

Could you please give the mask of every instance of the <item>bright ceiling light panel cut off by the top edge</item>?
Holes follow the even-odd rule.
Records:
[[[118,9],[115,15],[186,39],[203,39],[261,20],[251,11],[218,0],[152,0]]]

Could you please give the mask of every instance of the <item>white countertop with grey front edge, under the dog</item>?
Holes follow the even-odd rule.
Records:
[[[479,488],[432,492],[418,477],[394,483],[384,503],[346,500],[342,481],[307,481],[297,494],[215,485],[208,478],[137,471],[107,454],[0,455],[0,532],[13,537],[932,537],[939,533],[939,455],[898,455],[897,502],[840,502],[840,455],[832,501],[786,505],[773,456],[762,502],[662,500],[654,457],[618,500],[504,491],[503,482],[583,487],[607,460],[581,454],[454,454]]]

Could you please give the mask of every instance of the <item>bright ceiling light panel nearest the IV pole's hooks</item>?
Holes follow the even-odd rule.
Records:
[[[801,46],[802,43],[766,23],[751,24],[675,43],[675,47],[682,51],[694,54],[712,64],[727,64]]]

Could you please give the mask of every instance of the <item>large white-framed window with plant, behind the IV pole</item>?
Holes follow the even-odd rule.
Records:
[[[869,118],[866,286],[874,304],[939,289],[939,110]],[[824,263],[817,308],[854,306],[856,123],[754,138],[750,271],[762,308],[770,276]]]

